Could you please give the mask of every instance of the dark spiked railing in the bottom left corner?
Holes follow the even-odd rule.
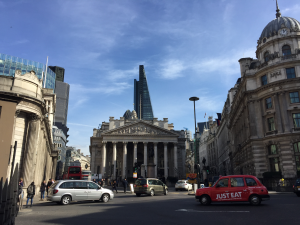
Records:
[[[16,165],[10,180],[0,181],[0,225],[14,225],[18,215],[19,166]]]

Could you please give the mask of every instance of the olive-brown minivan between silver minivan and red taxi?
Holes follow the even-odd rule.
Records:
[[[156,178],[139,178],[134,184],[134,193],[137,197],[141,194],[154,196],[157,194],[168,194],[168,187]]]

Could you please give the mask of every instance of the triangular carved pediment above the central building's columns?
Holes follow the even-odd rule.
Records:
[[[112,130],[103,132],[101,135],[149,135],[149,136],[178,136],[175,132],[165,128],[149,124],[144,121],[138,121],[131,124],[126,124]]]

